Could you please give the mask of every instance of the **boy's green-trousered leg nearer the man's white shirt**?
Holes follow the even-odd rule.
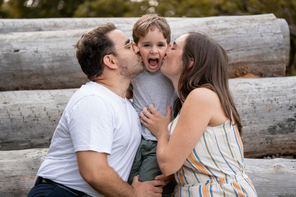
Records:
[[[139,146],[139,148],[137,150],[136,157],[133,160],[133,165],[131,167],[131,172],[130,172],[130,175],[128,177],[128,183],[129,184],[131,184],[133,182],[134,176],[139,174],[139,170],[140,170],[140,167],[141,167],[142,162],[143,162],[142,151],[147,146],[147,143],[148,143],[147,140],[144,140],[143,138],[141,139],[140,146]]]

